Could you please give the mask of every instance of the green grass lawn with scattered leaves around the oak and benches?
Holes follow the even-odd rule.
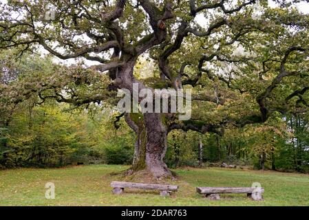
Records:
[[[0,170],[1,206],[309,206],[309,175],[273,171],[225,168],[181,168],[180,190],[171,197],[158,192],[125,190],[113,195],[113,172],[127,166],[91,165],[69,168],[18,168]],[[45,184],[53,182],[56,198],[45,199]],[[211,201],[195,192],[196,186],[251,186],[259,182],[265,188],[264,201],[252,201],[246,195],[221,195]]]

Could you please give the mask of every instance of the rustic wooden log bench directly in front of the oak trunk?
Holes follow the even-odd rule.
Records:
[[[178,186],[161,184],[138,184],[125,181],[112,181],[111,187],[114,194],[121,194],[125,188],[138,188],[142,190],[160,190],[161,196],[169,196],[172,191],[177,191]]]

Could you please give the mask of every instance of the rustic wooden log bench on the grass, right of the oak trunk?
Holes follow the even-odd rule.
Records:
[[[220,193],[246,193],[253,200],[262,200],[264,188],[255,187],[197,187],[196,192],[209,197],[210,199],[220,199]]]

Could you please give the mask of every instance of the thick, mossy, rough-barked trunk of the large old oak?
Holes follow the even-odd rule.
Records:
[[[129,89],[131,93],[133,83],[138,83],[139,91],[146,88],[133,76],[135,61],[128,61],[115,80],[118,87]],[[126,115],[127,124],[136,132],[134,162],[131,171],[135,173],[147,169],[153,177],[171,177],[171,172],[163,162],[167,151],[167,128],[162,123],[162,113],[144,113],[143,115],[130,113],[129,117],[128,113]]]

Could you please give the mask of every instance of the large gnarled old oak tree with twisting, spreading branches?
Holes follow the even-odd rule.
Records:
[[[85,72],[109,76],[107,90],[133,91],[134,83],[193,89],[191,120],[124,114],[137,137],[131,171],[169,177],[163,157],[173,129],[221,134],[227,124],[308,110],[309,18],[293,7],[298,1],[276,2],[277,8],[255,0],[8,1],[0,9],[0,47],[17,47],[23,55],[40,46],[61,59],[95,61]],[[146,80],[134,74],[142,56],[157,70]],[[100,92],[65,98],[55,89],[63,83],[48,82],[32,89],[42,100],[82,105],[107,98]],[[48,89],[52,95],[44,94]]]

